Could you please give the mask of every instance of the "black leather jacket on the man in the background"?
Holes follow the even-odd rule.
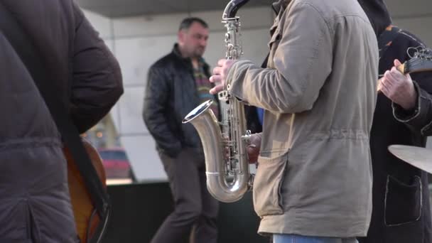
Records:
[[[204,70],[210,77],[206,63]],[[182,148],[188,147],[202,153],[195,128],[192,124],[182,124],[183,118],[199,104],[192,62],[180,55],[175,44],[171,53],[148,70],[143,118],[159,152],[175,157]]]

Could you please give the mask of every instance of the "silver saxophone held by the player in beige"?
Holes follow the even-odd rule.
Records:
[[[235,15],[247,1],[229,1],[222,16],[222,23],[227,28],[225,58],[228,60],[237,60],[242,55],[240,22]],[[183,123],[193,124],[198,131],[205,155],[207,189],[221,202],[240,200],[252,188],[253,181],[246,149],[251,134],[246,129],[244,104],[232,97],[229,90],[229,85],[225,85],[225,89],[218,94],[222,113],[220,122],[210,109],[211,99],[183,119]]]

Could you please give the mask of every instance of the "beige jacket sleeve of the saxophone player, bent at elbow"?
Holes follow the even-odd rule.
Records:
[[[239,60],[226,80],[232,84],[233,95],[256,107],[279,113],[303,112],[312,109],[332,70],[330,28],[321,13],[305,3],[296,4],[281,18],[285,18],[285,26],[276,28],[271,38],[271,43],[280,41],[274,68]]]

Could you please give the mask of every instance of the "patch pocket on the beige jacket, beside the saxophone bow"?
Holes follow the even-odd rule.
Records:
[[[284,213],[281,185],[284,180],[288,154],[276,158],[259,156],[254,178],[254,208],[260,217]]]

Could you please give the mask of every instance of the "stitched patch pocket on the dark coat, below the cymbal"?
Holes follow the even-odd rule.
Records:
[[[384,199],[384,222],[387,226],[404,225],[421,217],[421,178],[414,176],[411,184],[402,183],[387,175]]]

